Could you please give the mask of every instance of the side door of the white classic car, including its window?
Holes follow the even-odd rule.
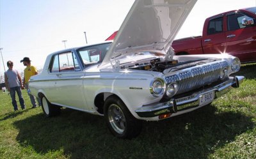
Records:
[[[84,110],[86,101],[83,95],[83,77],[74,52],[64,52],[56,55],[52,64],[52,73],[56,74],[52,93],[54,103],[73,109]]]

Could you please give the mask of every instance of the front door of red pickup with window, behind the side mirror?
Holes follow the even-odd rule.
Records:
[[[243,19],[250,19],[243,13],[227,15],[227,52],[239,57],[241,62],[256,61],[256,26],[243,26]]]

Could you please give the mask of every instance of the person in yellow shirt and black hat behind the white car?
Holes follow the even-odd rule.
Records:
[[[37,75],[38,72],[37,72],[35,66],[31,66],[31,61],[30,61],[29,57],[24,57],[22,60],[20,60],[20,63],[23,63],[24,66],[26,66],[26,68],[24,69],[24,86],[26,87],[26,89],[28,91],[28,81],[29,81],[30,77],[33,75]],[[32,108],[37,107],[36,99],[37,99],[38,105],[41,106],[41,102],[38,98],[35,98],[35,96],[31,95],[29,92],[28,92],[28,95],[29,95],[30,101],[32,103]]]

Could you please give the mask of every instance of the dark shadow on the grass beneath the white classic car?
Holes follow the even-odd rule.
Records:
[[[207,158],[214,150],[255,127],[239,112],[207,106],[164,121],[144,122],[135,139],[113,137],[104,118],[63,109],[58,117],[43,114],[14,123],[21,146],[37,153],[63,149],[69,158]]]

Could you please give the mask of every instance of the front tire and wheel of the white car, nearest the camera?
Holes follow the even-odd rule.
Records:
[[[132,116],[124,102],[116,96],[109,96],[104,103],[104,119],[113,135],[122,139],[137,137],[142,121]]]

